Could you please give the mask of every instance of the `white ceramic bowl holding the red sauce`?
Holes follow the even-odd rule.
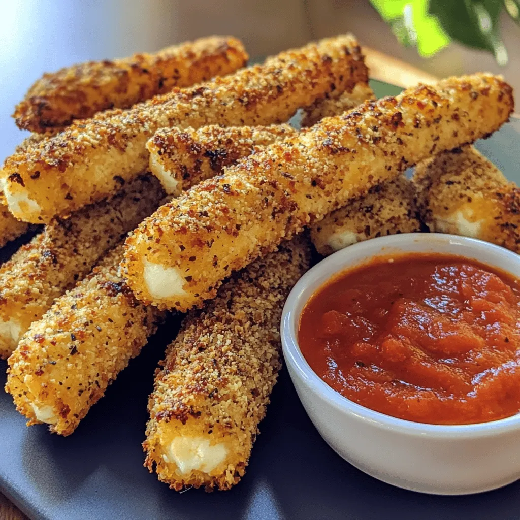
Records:
[[[283,355],[296,392],[329,446],[358,469],[414,491],[462,495],[495,489],[520,478],[520,414],[466,425],[397,419],[343,397],[309,367],[297,342],[305,303],[332,275],[378,255],[402,252],[462,255],[520,277],[520,255],[480,240],[406,233],[359,242],[310,269],[283,309]]]

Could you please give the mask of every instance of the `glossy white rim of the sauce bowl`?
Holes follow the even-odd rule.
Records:
[[[474,256],[467,256],[463,253],[461,256],[467,256],[473,258],[478,262],[487,264],[490,267],[499,268],[510,272],[512,276],[520,277],[520,255],[513,253],[507,249],[504,249],[498,245],[485,242],[483,240],[461,237],[458,235],[448,235],[445,233],[400,233],[398,235],[390,235],[385,237],[378,237],[356,244],[350,245],[345,249],[337,251],[330,256],[324,258],[321,262],[316,264],[314,267],[309,269],[294,285],[292,291],[289,293],[285,305],[282,310],[282,318],[280,324],[280,333],[282,341],[282,350],[285,362],[289,366],[289,373],[291,379],[293,379],[292,370],[295,370],[300,381],[303,382],[305,387],[313,392],[315,395],[326,400],[336,410],[347,414],[354,415],[359,420],[368,421],[373,423],[385,430],[398,431],[408,435],[421,435],[424,437],[432,438],[475,438],[475,437],[487,437],[491,435],[497,435],[507,433],[517,428],[520,428],[520,412],[511,417],[504,419],[498,419],[495,421],[473,423],[473,424],[430,424],[420,423],[415,421],[409,421],[406,419],[399,419],[392,417],[382,412],[378,412],[359,405],[354,401],[349,400],[343,396],[326,382],[324,382],[320,376],[310,368],[307,360],[303,356],[300,347],[297,342],[297,329],[298,322],[300,319],[301,312],[305,303],[309,300],[310,296],[314,294],[322,285],[337,276],[340,272],[347,270],[349,267],[355,267],[369,258],[376,256],[386,256],[388,252],[368,253],[362,255],[363,250],[371,250],[389,248],[396,254],[406,253],[407,250],[400,249],[406,244],[424,243],[427,244],[422,251],[436,252],[435,244],[448,244],[450,246],[463,246],[466,249],[466,253],[469,250],[474,251]],[[418,251],[420,252],[420,251]],[[361,256],[356,259],[353,264],[349,264],[349,259],[352,260],[358,254]],[[482,258],[483,255],[487,254],[486,259]],[[479,256],[482,255],[482,256]],[[503,267],[497,266],[495,263],[489,261],[489,257],[493,257],[496,261],[497,258],[501,258],[504,263],[510,263],[511,269],[504,269]],[[340,266],[339,269],[334,269],[327,276],[323,275],[323,272],[330,268],[330,266]],[[342,267],[341,267],[342,266]],[[513,267],[515,269],[513,269]],[[513,272],[516,270],[516,273]],[[318,284],[316,282],[321,280]],[[309,293],[309,286],[315,285]],[[299,310],[298,310],[299,309]]]

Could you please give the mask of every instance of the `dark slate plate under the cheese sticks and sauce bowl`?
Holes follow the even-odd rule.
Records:
[[[374,86],[378,95],[395,93],[395,87]],[[520,183],[520,121],[479,147]],[[159,331],[70,437],[50,435],[43,425],[25,427],[10,396],[0,391],[0,490],[28,516],[35,520],[520,516],[520,483],[481,495],[435,497],[383,484],[356,470],[321,439],[285,371],[272,394],[243,481],[227,492],[171,491],[142,467],[140,443],[153,371],[177,327],[171,322]],[[0,385],[4,383],[5,362],[0,362]]]

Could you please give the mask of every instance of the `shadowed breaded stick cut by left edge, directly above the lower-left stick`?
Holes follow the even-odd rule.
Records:
[[[155,177],[138,178],[109,201],[54,219],[0,266],[0,357],[8,357],[31,323],[150,215],[161,197]]]

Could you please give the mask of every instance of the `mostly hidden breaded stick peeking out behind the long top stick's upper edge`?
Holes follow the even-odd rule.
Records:
[[[374,91],[368,83],[358,83],[352,92],[343,92],[340,97],[328,97],[316,100],[304,110],[302,126],[313,126],[323,118],[340,115],[352,110],[364,101],[375,99]]]

